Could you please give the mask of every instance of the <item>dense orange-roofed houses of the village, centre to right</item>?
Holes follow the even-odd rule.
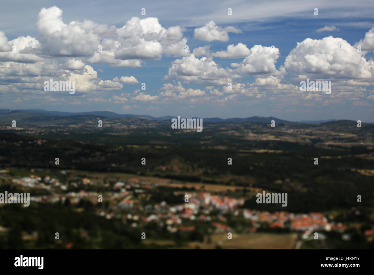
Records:
[[[245,202],[244,198],[229,198],[228,196],[212,195],[208,192],[174,192],[174,195],[188,196],[188,201],[181,204],[168,206],[166,202],[153,205],[149,210],[149,216],[144,217],[141,221],[145,223],[166,221],[170,232],[177,232],[183,223],[183,219],[208,221],[216,232],[226,232],[229,226],[225,224],[224,214],[230,213],[234,216],[240,214],[245,219],[251,220],[251,231],[255,232],[264,223],[270,228],[289,228],[295,231],[308,232],[310,230],[338,230],[343,232],[346,227],[341,224],[329,222],[322,213],[294,214],[286,211],[269,213],[268,211],[241,209]],[[119,207],[130,210],[136,208],[134,201],[124,199],[118,204]],[[212,216],[211,212],[218,210],[219,214]]]

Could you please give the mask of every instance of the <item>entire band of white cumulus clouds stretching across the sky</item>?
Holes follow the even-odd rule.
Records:
[[[325,26],[316,30],[334,31],[335,26]],[[221,51],[211,52],[211,46],[196,47],[191,53],[185,51],[187,38],[184,28],[172,26],[164,28],[157,18],[129,19],[123,27],[97,24],[90,20],[83,22],[62,20],[62,10],[57,7],[40,10],[37,18],[38,37],[21,36],[8,40],[0,31],[0,93],[2,95],[36,91],[45,95],[43,82],[54,80],[75,81],[77,93],[74,96],[87,97],[90,102],[111,101],[129,110],[127,101],[167,100],[189,101],[189,103],[217,102],[225,104],[231,100],[252,97],[288,101],[292,104],[302,99],[324,104],[352,101],[354,106],[365,106],[365,100],[373,100],[374,92],[365,87],[374,85],[374,61],[363,56],[365,51],[374,51],[374,28],[365,37],[349,45],[341,38],[325,37],[320,40],[305,39],[287,56],[284,66],[276,70],[279,49],[254,45],[251,49],[243,43],[228,45]],[[194,37],[203,41],[228,41],[229,32],[240,33],[234,27],[222,28],[213,21],[194,30]],[[357,46],[362,46],[362,53]],[[105,80],[98,77],[97,71],[86,64],[109,64],[111,67],[141,67],[146,60],[159,60],[162,56],[176,58],[164,77],[174,84],[163,84],[158,95],[144,94],[141,90],[120,95],[97,96],[104,91],[119,91],[124,84],[139,81],[134,76],[114,77]],[[217,64],[213,58],[241,58],[232,63],[232,68]],[[287,72],[286,72],[287,70]],[[333,80],[333,91],[325,100],[321,92],[300,92],[283,75],[289,73],[294,81],[313,78]],[[254,75],[252,83],[237,83],[237,79]],[[177,85],[175,85],[175,82]],[[206,85],[199,89],[183,87],[181,82]],[[229,90],[227,84],[232,83]],[[81,94],[79,93],[81,92]],[[119,92],[120,93],[120,92]],[[25,93],[26,94],[26,93]],[[89,98],[89,95],[96,95]],[[106,93],[101,93],[107,95]],[[59,103],[57,94],[45,95],[45,101]],[[108,99],[110,98],[110,99]],[[23,98],[25,100],[26,97]],[[71,104],[81,104],[74,99]]]

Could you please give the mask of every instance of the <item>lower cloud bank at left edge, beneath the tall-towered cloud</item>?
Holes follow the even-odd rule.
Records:
[[[7,81],[6,92],[27,89],[28,92],[46,94],[48,92],[44,91],[43,83],[51,78],[74,81],[76,91],[81,92],[94,93],[123,88],[121,83],[99,79],[97,71],[85,65],[80,59],[45,57],[40,53],[40,43],[30,36],[18,37],[7,42],[7,38],[0,33],[0,43],[3,50],[8,50],[0,52],[0,82]],[[4,47],[3,43],[15,48]]]

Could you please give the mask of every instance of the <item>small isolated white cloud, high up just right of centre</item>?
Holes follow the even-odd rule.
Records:
[[[221,28],[217,26],[214,21],[210,21],[205,24],[205,26],[200,28],[195,28],[194,38],[202,41],[229,41],[229,32],[230,33],[241,33],[241,31],[235,27],[226,27]]]

